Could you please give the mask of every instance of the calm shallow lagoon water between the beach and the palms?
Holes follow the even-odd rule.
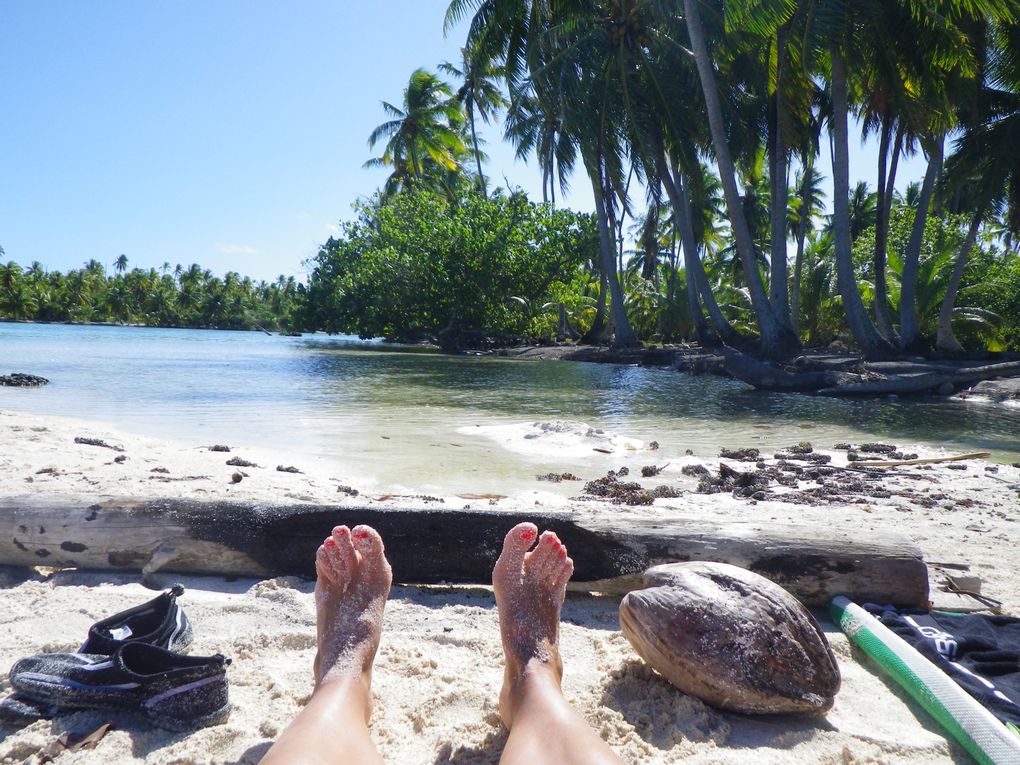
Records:
[[[195,445],[316,455],[388,491],[509,493],[536,473],[595,477],[622,451],[521,449],[525,423],[568,420],[658,441],[640,464],[802,441],[922,444],[1020,458],[1020,410],[946,400],[825,399],[715,376],[563,361],[447,356],[356,338],[0,323],[0,409],[102,422]],[[0,445],[2,448],[3,445]],[[630,453],[633,455],[633,453]],[[636,457],[630,457],[636,459]],[[639,464],[632,462],[632,464]]]

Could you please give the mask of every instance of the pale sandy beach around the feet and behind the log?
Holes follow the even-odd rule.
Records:
[[[102,440],[123,451],[75,444],[75,437]],[[232,454],[223,454],[210,452],[208,446],[0,412],[0,497],[219,497],[384,506],[402,502],[373,499],[381,493],[370,476],[360,476],[359,483],[359,476],[325,462],[294,462],[237,445],[231,445]],[[845,454],[832,454],[833,463],[846,464]],[[225,465],[234,455],[262,467]],[[126,459],[116,462],[120,456]],[[539,484],[538,495],[495,504],[443,499],[452,507],[520,511],[533,507],[539,497],[544,507],[588,515],[754,517],[851,528],[862,536],[896,530],[912,537],[926,560],[969,565],[969,573],[983,579],[986,595],[1003,601],[1007,613],[1020,613],[1020,588],[1015,583],[1020,570],[1015,545],[1020,519],[1017,468],[980,461],[967,462],[965,470],[928,466],[923,480],[890,480],[889,498],[813,506],[692,494],[696,480],[680,470],[695,458],[660,453],[648,461],[670,463],[655,480],[679,488],[680,497],[629,508],[571,500],[569,496],[579,491],[576,486]],[[718,463],[700,461],[709,468]],[[276,465],[293,465],[301,472],[279,472]],[[234,483],[231,476],[239,470],[247,475]],[[582,477],[599,477],[599,471],[593,468]],[[897,494],[898,484],[915,499]],[[362,494],[351,497],[338,491],[341,486]],[[342,509],[338,514],[342,517]],[[37,753],[62,732],[88,732],[110,719],[115,729],[95,750],[62,754],[59,762],[184,765],[259,760],[311,691],[311,582],[161,574],[157,579],[161,585],[182,580],[187,588],[181,603],[195,625],[192,653],[218,652],[233,658],[228,676],[235,709],[230,720],[188,734],[150,729],[128,715],[99,712],[64,715],[21,729],[4,726],[0,763],[41,762]],[[6,672],[21,656],[73,651],[93,621],[152,596],[135,575],[0,568],[0,671]],[[680,694],[640,662],[619,632],[617,608],[616,599],[570,595],[563,612],[564,686],[629,763],[969,762],[963,750],[852,650],[822,614],[818,616],[838,658],[844,685],[826,717],[805,719],[724,713]],[[497,763],[506,736],[496,711],[501,676],[497,614],[488,588],[396,586],[374,674],[373,735],[379,750],[389,762],[402,764]],[[0,686],[4,693],[9,690],[6,680]],[[338,731],[338,743],[341,734]]]

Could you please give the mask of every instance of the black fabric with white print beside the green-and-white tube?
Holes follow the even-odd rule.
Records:
[[[1003,722],[1020,725],[1020,619],[865,608]]]

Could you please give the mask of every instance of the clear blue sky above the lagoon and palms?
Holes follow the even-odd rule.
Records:
[[[385,178],[380,100],[458,60],[444,0],[0,2],[0,247],[50,269],[303,278],[304,260]],[[541,198],[538,170],[483,131],[488,173]],[[378,152],[375,152],[378,153]],[[853,174],[874,183],[874,151]],[[903,186],[923,172],[917,160]],[[827,168],[822,168],[827,173]],[[566,202],[592,208],[576,177]]]

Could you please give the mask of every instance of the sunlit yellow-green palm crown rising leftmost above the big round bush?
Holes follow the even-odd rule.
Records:
[[[450,86],[431,72],[415,69],[404,89],[402,106],[382,102],[382,110],[392,119],[371,132],[368,145],[386,140],[386,149],[381,157],[365,165],[394,166],[419,184],[432,169],[457,170],[467,149],[461,136],[460,106]]]

